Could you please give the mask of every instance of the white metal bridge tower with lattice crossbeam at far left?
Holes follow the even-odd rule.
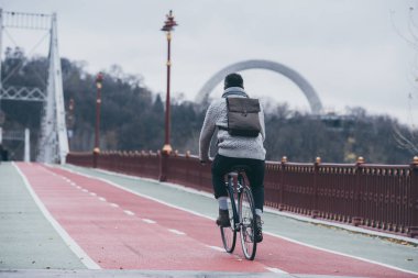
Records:
[[[41,88],[14,87],[1,79],[0,65],[0,113],[1,100],[42,101],[37,162],[65,164],[68,153],[67,127],[65,123],[64,91],[61,58],[58,53],[57,16],[43,13],[8,12],[0,9],[0,60],[2,32],[7,27],[46,30],[50,33],[48,77],[46,90]],[[4,78],[7,79],[7,78]]]

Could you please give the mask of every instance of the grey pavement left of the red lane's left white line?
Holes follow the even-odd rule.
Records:
[[[0,164],[0,269],[82,269],[10,163]]]

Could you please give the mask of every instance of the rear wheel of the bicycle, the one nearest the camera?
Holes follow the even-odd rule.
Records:
[[[255,242],[255,208],[253,194],[246,186],[243,187],[240,194],[239,211],[241,220],[240,236],[242,252],[246,259],[253,260],[257,249],[257,243]]]

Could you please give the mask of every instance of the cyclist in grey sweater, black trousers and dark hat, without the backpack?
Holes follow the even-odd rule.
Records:
[[[261,132],[256,137],[232,136],[226,130],[227,100],[226,98],[248,98],[243,79],[239,74],[230,74],[224,78],[222,98],[215,100],[208,108],[200,132],[199,158],[202,164],[209,160],[209,149],[212,135],[218,127],[218,153],[211,165],[212,186],[215,198],[219,203],[217,224],[229,226],[228,192],[224,185],[224,175],[237,165],[244,165],[250,180],[255,204],[256,242],[263,241],[262,214],[264,205],[264,167],[265,167],[265,124],[263,109],[258,113]]]

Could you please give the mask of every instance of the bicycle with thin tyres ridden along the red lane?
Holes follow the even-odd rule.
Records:
[[[253,260],[257,243],[255,241],[256,223],[254,199],[245,184],[245,166],[235,166],[228,174],[226,182],[229,200],[230,226],[220,226],[223,247],[228,253],[235,248],[237,233],[240,232],[241,247],[244,256]]]

